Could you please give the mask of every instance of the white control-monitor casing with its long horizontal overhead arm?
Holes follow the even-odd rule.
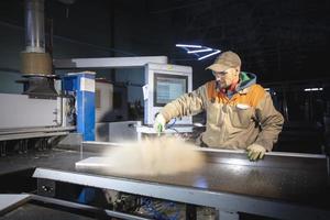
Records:
[[[70,59],[54,59],[55,69],[107,69],[107,68],[136,68],[143,67],[145,69],[146,84],[153,82],[153,73],[160,70],[172,75],[184,75],[188,77],[188,91],[193,89],[193,69],[188,66],[178,66],[167,64],[166,56],[136,56],[136,57],[102,57],[102,58],[70,58]],[[153,102],[153,84],[147,89],[148,100],[145,101],[145,121],[146,124],[152,124],[154,114],[158,112],[160,108],[154,107]],[[148,113],[147,113],[148,112]],[[191,117],[185,117],[184,120],[178,120],[178,124],[191,124]],[[178,128],[179,132],[191,132],[189,128]],[[155,133],[148,127],[138,127],[138,139],[141,139],[142,133]],[[168,131],[170,132],[170,131]]]

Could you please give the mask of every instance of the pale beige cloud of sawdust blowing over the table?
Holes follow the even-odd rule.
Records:
[[[105,153],[106,172],[121,175],[175,175],[200,168],[204,155],[196,145],[158,138],[111,148]]]

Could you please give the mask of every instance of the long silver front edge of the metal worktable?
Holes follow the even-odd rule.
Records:
[[[326,220],[330,215],[328,211],[310,207],[301,207],[295,204],[285,204],[283,201],[116,178],[110,176],[97,176],[74,172],[36,168],[33,177],[102,189],[113,189],[128,194],[135,194],[190,205],[213,207],[219,211],[219,216],[221,216],[221,212],[235,213],[239,211],[278,219]]]

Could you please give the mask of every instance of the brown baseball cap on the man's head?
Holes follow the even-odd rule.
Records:
[[[221,53],[215,61],[215,63],[207,67],[206,69],[211,69],[213,72],[224,72],[226,69],[241,66],[241,58],[240,56],[232,52],[223,52]]]

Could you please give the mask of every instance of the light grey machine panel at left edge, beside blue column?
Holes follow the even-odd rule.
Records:
[[[0,116],[0,141],[61,136],[76,129],[65,113],[68,98],[0,94],[0,100],[6,103]]]

